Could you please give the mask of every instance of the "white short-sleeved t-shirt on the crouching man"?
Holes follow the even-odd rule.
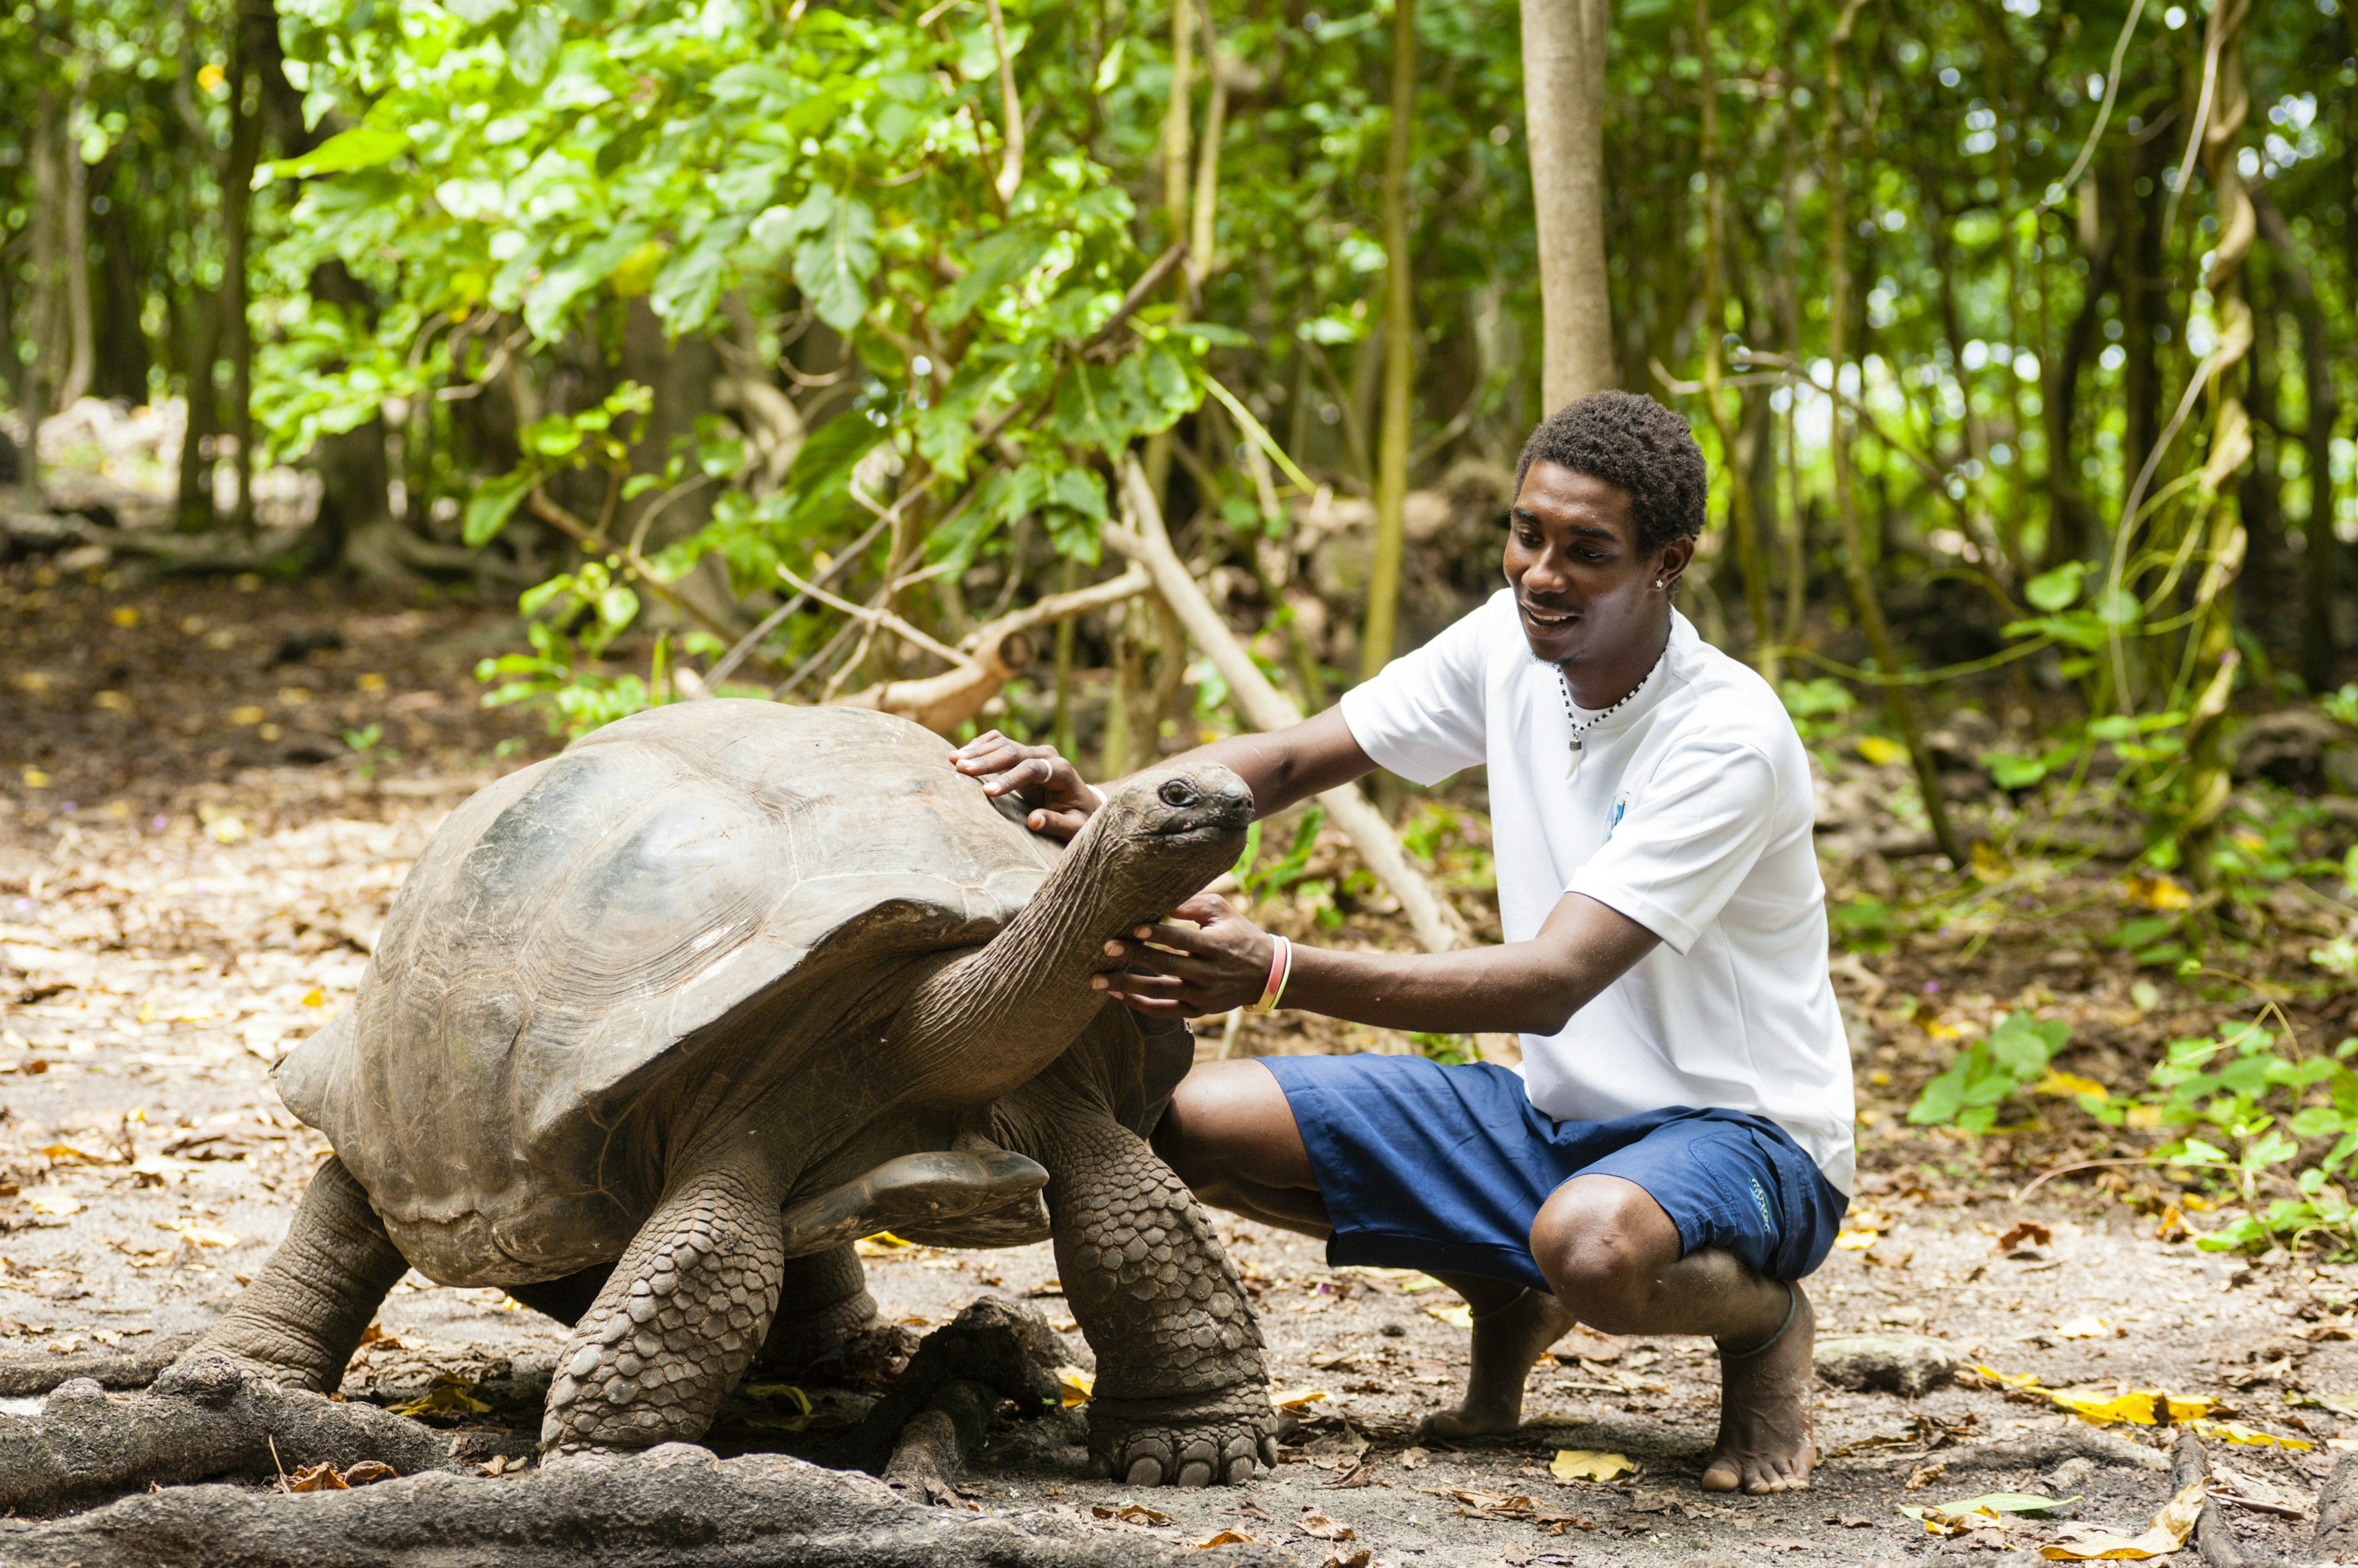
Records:
[[[1566,780],[1563,677],[1500,589],[1349,691],[1342,714],[1403,778],[1490,764],[1507,941],[1537,936],[1568,891],[1662,938],[1561,1033],[1523,1035],[1540,1113],[1750,1111],[1851,1191],[1851,1047],[1825,971],[1809,755],[1768,681],[1672,611],[1662,663],[1582,733]]]

